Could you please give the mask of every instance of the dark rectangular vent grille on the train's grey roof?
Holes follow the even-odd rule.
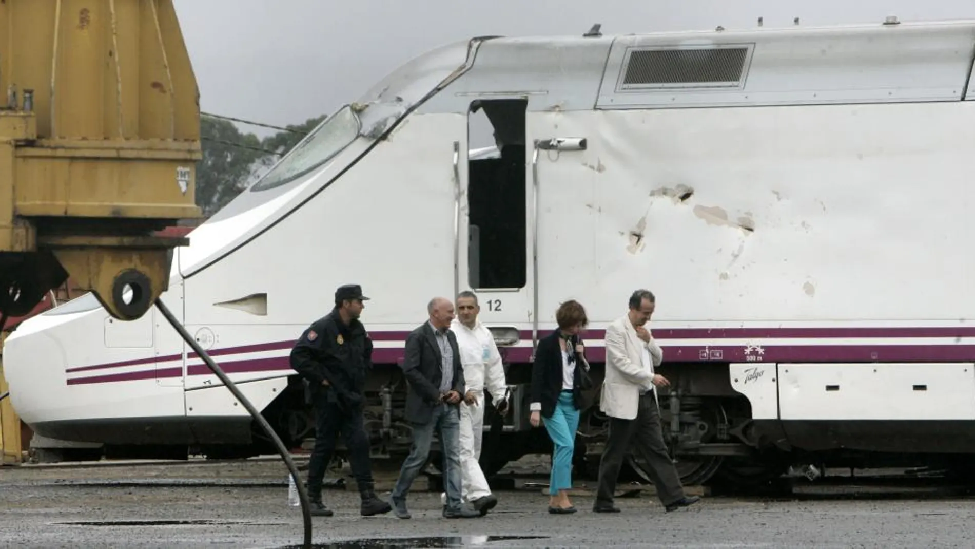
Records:
[[[749,46],[633,49],[620,89],[737,88],[751,51]]]

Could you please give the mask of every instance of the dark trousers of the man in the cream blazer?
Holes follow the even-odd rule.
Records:
[[[660,501],[669,505],[680,500],[683,497],[681,479],[667,453],[660,425],[660,410],[654,392],[650,391],[640,397],[640,408],[635,419],[609,418],[609,436],[600,460],[600,488],[596,493],[596,505],[612,503],[619,468],[631,443],[635,444],[636,450],[649,465],[647,473]]]

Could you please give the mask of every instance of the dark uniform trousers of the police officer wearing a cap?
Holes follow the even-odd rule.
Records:
[[[341,433],[349,451],[352,475],[359,490],[372,489],[372,470],[369,456],[369,436],[363,426],[363,413],[353,409],[345,412],[325,397],[318,397],[315,406],[315,449],[308,460],[308,498],[321,501],[325,469],[335,451],[335,439]]]

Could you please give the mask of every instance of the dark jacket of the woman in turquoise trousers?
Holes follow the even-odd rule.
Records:
[[[583,408],[582,391],[588,376],[584,371],[582,356],[574,351],[576,343],[580,341],[578,335],[572,335],[567,341],[568,348],[575,354],[575,370],[572,376],[572,400],[576,410]],[[562,393],[562,349],[559,347],[559,331],[546,335],[538,340],[535,350],[535,361],[531,365],[531,402],[541,403],[542,415],[552,417],[556,402]]]

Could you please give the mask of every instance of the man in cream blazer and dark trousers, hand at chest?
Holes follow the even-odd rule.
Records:
[[[630,310],[606,328],[606,373],[600,410],[609,416],[609,435],[600,461],[599,491],[593,511],[618,513],[613,506],[616,479],[630,442],[649,465],[657,497],[668,512],[686,507],[700,497],[686,497],[677,468],[667,453],[656,387],[669,385],[653,369],[663,361],[663,350],[643,325],[653,315],[656,298],[646,290],[630,296]]]

